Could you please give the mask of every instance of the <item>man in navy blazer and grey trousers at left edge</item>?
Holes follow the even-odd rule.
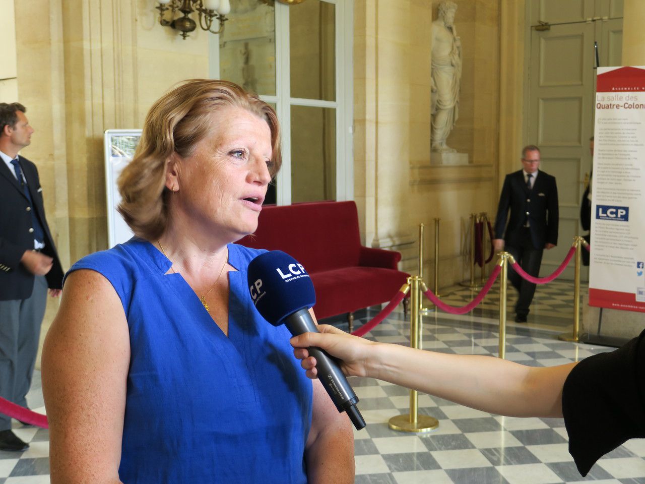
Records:
[[[47,290],[57,297],[63,268],[45,219],[34,163],[18,152],[34,128],[20,103],[0,103],[0,396],[26,407]],[[0,450],[29,447],[0,414]]]

